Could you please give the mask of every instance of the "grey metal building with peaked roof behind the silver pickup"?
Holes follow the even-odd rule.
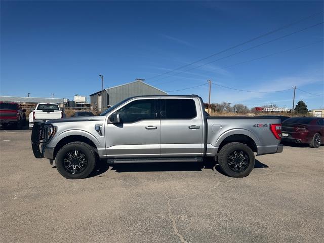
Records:
[[[108,105],[115,105],[120,101],[137,95],[167,95],[167,93],[144,83],[143,79],[136,79],[131,83],[105,89],[103,99],[102,91],[91,94],[91,106],[106,109],[105,107],[108,107]]]

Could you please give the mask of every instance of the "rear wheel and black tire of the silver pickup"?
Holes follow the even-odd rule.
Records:
[[[218,164],[227,176],[246,177],[254,168],[254,152],[246,144],[228,143],[218,153]]]

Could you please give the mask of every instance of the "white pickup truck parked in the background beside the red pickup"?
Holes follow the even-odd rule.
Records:
[[[38,103],[34,110],[29,114],[29,130],[32,130],[34,122],[46,122],[48,120],[63,117],[63,111],[58,104]]]

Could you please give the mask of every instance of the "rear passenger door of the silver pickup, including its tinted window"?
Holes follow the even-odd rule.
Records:
[[[195,98],[161,98],[162,157],[203,154],[203,114]]]

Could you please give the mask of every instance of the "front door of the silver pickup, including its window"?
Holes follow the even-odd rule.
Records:
[[[129,101],[114,113],[119,124],[106,124],[108,157],[158,157],[160,155],[159,98]]]

